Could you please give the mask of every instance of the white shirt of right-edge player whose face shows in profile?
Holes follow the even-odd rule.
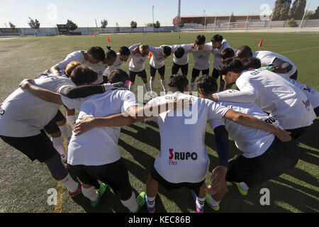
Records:
[[[274,72],[244,71],[236,85],[241,92],[254,92],[257,106],[276,118],[284,129],[310,126],[316,118],[305,94]],[[221,96],[218,100],[235,102],[234,99],[223,100]]]

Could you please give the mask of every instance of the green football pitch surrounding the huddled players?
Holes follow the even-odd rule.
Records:
[[[69,52],[88,50],[99,45],[106,50],[111,45],[118,50],[122,45],[135,43],[149,45],[173,45],[193,43],[197,33],[150,33],[94,36],[55,36],[55,37],[25,37],[0,38],[0,102],[6,99],[22,79],[34,78],[36,74],[49,69],[63,60]],[[204,33],[206,41],[210,41],[215,33]],[[298,81],[314,89],[319,89],[319,34],[318,33],[223,33],[224,38],[234,48],[240,45],[250,45],[253,51],[271,50],[289,57],[298,67]],[[257,47],[259,40],[264,38],[262,48]],[[147,78],[149,74],[149,59],[145,62]],[[211,56],[213,62],[213,55]],[[172,69],[172,56],[166,60],[166,77]],[[193,57],[189,57],[189,79]],[[211,71],[213,70],[211,64]],[[122,66],[128,71],[128,62]],[[142,80],[137,77],[137,85]],[[135,86],[135,92],[137,86]],[[155,92],[162,91],[159,75],[155,79]],[[159,93],[158,93],[159,94]],[[189,136],[194,136],[189,132]],[[233,184],[228,184],[228,194],[220,203],[218,212],[318,212],[319,211],[319,121],[299,140],[298,149],[301,158],[296,167],[284,175],[251,188],[247,196],[241,196]],[[118,142],[121,156],[130,173],[130,182],[137,192],[145,191],[150,165],[159,153],[159,130],[155,124],[135,123],[121,130]],[[211,159],[210,171],[216,167],[215,137],[211,128],[206,130],[206,146]],[[230,142],[230,157],[240,153],[235,144]],[[74,199],[68,196],[66,189],[60,189],[57,206],[47,204],[47,190],[57,188],[57,182],[52,179],[47,167],[40,162],[30,162],[18,150],[0,140],[0,212],[127,212],[121,201],[107,190],[101,204],[92,209],[89,200],[79,195]],[[208,183],[208,178],[206,183]],[[270,206],[262,206],[259,199],[260,189],[270,191]],[[167,192],[159,186],[156,199],[157,212],[194,212],[194,201],[188,189]],[[206,212],[215,212],[206,206]],[[147,212],[144,206],[141,212]]]

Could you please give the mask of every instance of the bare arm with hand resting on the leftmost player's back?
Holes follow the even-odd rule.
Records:
[[[44,89],[42,87],[38,87],[32,84],[32,79],[23,79],[23,81],[19,84],[21,89],[26,89],[28,92],[42,99],[43,101],[52,102],[54,104],[63,105],[61,96],[57,92],[52,92],[50,90]]]

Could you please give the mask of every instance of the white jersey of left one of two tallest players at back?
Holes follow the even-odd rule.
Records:
[[[211,58],[212,46],[205,44],[202,50],[191,49],[191,53],[194,57],[194,68],[196,70],[207,70],[209,69],[209,63]]]

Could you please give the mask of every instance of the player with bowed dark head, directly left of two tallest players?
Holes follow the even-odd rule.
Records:
[[[189,73],[189,52],[194,48],[192,44],[172,45],[173,66],[172,75],[177,74],[179,69],[181,73],[187,76]]]

